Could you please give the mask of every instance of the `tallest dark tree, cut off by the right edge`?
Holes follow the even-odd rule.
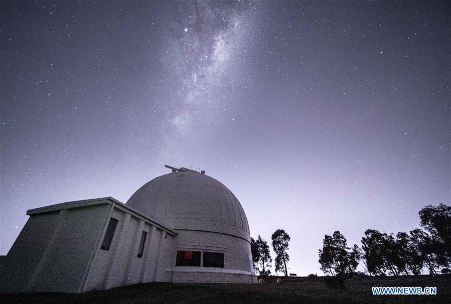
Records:
[[[428,231],[434,240],[438,262],[447,267],[451,262],[451,207],[444,204],[428,205],[421,209],[418,215],[420,226]]]

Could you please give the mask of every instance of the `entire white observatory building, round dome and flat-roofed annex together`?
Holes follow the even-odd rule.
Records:
[[[28,210],[0,259],[0,293],[255,283],[238,199],[205,171],[166,167],[172,173],[146,183],[126,204],[108,197]]]

